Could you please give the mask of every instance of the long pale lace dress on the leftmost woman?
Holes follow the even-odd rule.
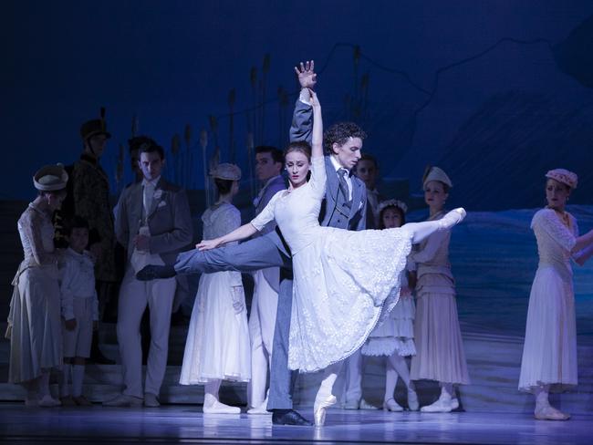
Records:
[[[31,202],[18,220],[25,259],[13,285],[8,328],[8,381],[19,383],[62,364],[62,326],[54,226],[51,217]]]

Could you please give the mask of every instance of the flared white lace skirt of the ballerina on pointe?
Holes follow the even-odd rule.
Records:
[[[288,367],[314,372],[362,347],[398,301],[411,237],[405,229],[318,228],[293,256]]]

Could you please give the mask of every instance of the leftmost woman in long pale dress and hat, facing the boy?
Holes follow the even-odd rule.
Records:
[[[54,252],[52,214],[66,198],[68,173],[61,165],[36,172],[38,191],[18,220],[25,259],[13,281],[7,336],[10,336],[8,381],[26,388],[26,406],[55,407],[49,374],[62,365],[60,291]]]

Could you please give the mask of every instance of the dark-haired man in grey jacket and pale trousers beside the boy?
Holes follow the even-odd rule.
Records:
[[[175,279],[140,282],[136,273],[146,264],[173,264],[192,242],[192,217],[185,191],[161,178],[164,150],[154,142],[140,147],[143,179],[126,188],[118,203],[115,232],[128,250],[126,274],[120,287],[118,342],[125,389],[106,406],[158,407],[167,367],[169,328]],[[146,384],[142,390],[140,319],[150,309],[151,347]]]

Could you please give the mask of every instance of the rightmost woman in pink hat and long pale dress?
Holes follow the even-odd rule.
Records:
[[[584,256],[579,251],[590,247],[593,231],[579,237],[577,220],[566,211],[570,191],[577,188],[577,175],[556,169],[548,171],[546,178],[547,206],[536,212],[531,222],[539,265],[529,295],[519,389],[536,397],[536,419],[567,420],[568,414],[550,406],[548,394],[577,385],[570,258],[582,264]]]

